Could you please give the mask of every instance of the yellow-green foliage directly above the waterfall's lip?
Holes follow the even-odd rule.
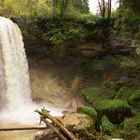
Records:
[[[0,14],[6,17],[44,15],[47,8],[45,0],[4,0]]]

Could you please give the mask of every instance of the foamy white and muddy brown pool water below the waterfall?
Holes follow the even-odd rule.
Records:
[[[28,128],[28,127],[46,127],[44,123],[39,125],[39,115],[34,112],[35,109],[41,109],[44,105],[45,108],[51,110],[50,114],[54,116],[62,116],[62,108],[51,103],[40,103],[33,106],[33,110],[27,112],[15,112],[17,114],[13,117],[6,117],[5,114],[0,115],[0,128]],[[22,110],[23,111],[23,110]],[[12,112],[13,113],[13,112]],[[9,112],[9,116],[13,116]],[[3,116],[3,117],[2,117]],[[5,119],[3,119],[5,117]],[[19,117],[19,118],[18,118]],[[9,123],[10,122],[10,123]],[[35,136],[43,134],[44,130],[16,130],[16,131],[0,131],[0,140],[34,140]]]

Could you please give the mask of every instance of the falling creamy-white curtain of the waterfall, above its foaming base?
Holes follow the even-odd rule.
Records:
[[[0,17],[0,91],[1,106],[7,109],[20,108],[31,102],[21,31],[15,23],[4,17]]]

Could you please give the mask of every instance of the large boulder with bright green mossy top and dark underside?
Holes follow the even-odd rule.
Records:
[[[100,101],[96,105],[99,118],[106,115],[112,123],[121,123],[131,115],[131,107],[124,100],[110,99]]]

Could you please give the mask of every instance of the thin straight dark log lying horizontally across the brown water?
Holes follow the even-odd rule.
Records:
[[[0,131],[44,130],[48,127],[0,128]]]

